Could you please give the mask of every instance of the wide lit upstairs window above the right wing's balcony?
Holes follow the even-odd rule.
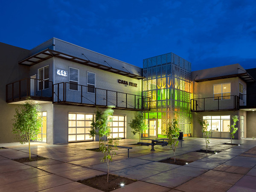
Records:
[[[230,99],[231,84],[215,84],[213,85],[214,100],[218,99]]]

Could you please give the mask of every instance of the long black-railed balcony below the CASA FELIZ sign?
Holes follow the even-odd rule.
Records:
[[[130,93],[62,82],[53,84],[53,103],[94,107],[115,106],[135,111],[150,110],[150,98]]]

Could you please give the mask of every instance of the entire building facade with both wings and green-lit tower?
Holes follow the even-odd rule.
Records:
[[[236,139],[256,135],[255,69],[234,64],[192,72],[174,53],[144,59],[140,68],[57,38],[31,50],[0,43],[0,50],[0,143],[15,142],[12,118],[28,96],[41,105],[38,138],[45,143],[99,140],[89,136],[91,119],[110,105],[113,138],[138,137],[128,124],[138,111],[149,127],[142,137],[165,137],[174,118],[184,137],[202,137],[201,118],[211,137],[228,138],[234,115]]]

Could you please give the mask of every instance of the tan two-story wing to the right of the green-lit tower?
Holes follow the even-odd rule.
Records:
[[[192,136],[201,137],[198,118],[209,122],[212,138],[229,138],[232,117],[238,116],[236,139],[256,134],[255,73],[239,64],[192,72]],[[249,72],[249,73],[248,73]],[[197,113],[196,113],[197,112]]]

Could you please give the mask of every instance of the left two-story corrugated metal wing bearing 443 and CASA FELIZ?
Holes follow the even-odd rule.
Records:
[[[8,52],[9,55],[3,55],[7,58],[13,56],[12,50],[18,49],[6,44],[1,47],[3,52]],[[115,107],[111,137],[135,137],[128,122],[136,111],[150,108],[150,99],[141,92],[142,68],[56,38],[23,52],[15,61],[4,62],[8,68],[3,72],[8,104],[3,103],[2,95],[1,105],[5,110],[1,107],[1,132],[8,134],[0,138],[1,143],[14,141],[13,108],[24,103],[28,96],[41,105],[44,121],[38,137],[43,142],[99,139],[89,136],[91,119],[96,108],[104,110],[107,106]],[[25,73],[20,74],[16,68]]]

